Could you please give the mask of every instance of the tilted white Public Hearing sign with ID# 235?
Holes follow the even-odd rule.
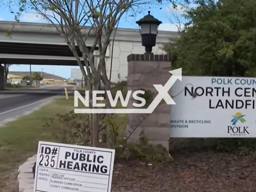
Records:
[[[34,192],[110,192],[115,150],[38,144]]]

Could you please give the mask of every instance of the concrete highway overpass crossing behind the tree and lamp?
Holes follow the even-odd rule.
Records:
[[[89,28],[84,28],[87,34]],[[10,32],[10,33],[9,33]],[[8,35],[7,35],[8,34]],[[159,48],[170,39],[178,37],[177,32],[159,31],[156,46],[152,52],[161,54]],[[90,47],[94,41],[93,33],[87,40]],[[113,45],[113,49],[112,49]],[[145,48],[141,45],[140,32],[137,29],[118,28],[113,42],[106,54],[106,68],[110,74],[112,57],[112,82],[118,82],[127,76],[127,56],[132,53],[143,54]],[[81,52],[78,51],[80,56]],[[95,64],[98,61],[98,51],[94,52]],[[76,59],[69,50],[64,38],[60,36],[52,24],[6,22],[0,21],[0,64],[36,64],[36,65],[68,65],[77,66]],[[2,68],[0,68],[0,71]],[[2,78],[0,72],[0,78]],[[0,80],[0,87],[2,81]]]

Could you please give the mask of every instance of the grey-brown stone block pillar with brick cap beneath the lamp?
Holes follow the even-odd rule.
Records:
[[[130,54],[127,60],[128,90],[132,90],[132,93],[142,89],[150,91],[152,93],[152,102],[158,94],[153,84],[162,84],[164,86],[171,77],[169,71],[171,70],[172,56],[154,55],[152,53]],[[131,94],[127,108],[137,108],[132,106],[134,101]],[[138,101],[138,103],[141,102]],[[145,108],[148,108],[148,106]],[[150,144],[161,144],[169,150],[170,105],[162,100],[152,114],[128,114],[127,131],[128,136],[130,135],[128,139],[130,142],[138,142],[143,133],[143,136]],[[133,133],[131,134],[131,132]]]

